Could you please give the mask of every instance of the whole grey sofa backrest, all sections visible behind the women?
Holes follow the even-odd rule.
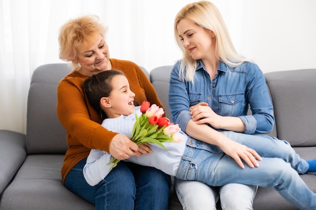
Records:
[[[141,67],[147,77],[149,74]],[[152,69],[150,80],[171,119],[168,92],[172,65]],[[64,154],[67,149],[66,130],[57,113],[57,85],[71,67],[52,63],[37,67],[32,75],[28,103],[26,149],[30,154]],[[294,147],[316,146],[316,69],[302,69],[265,74],[275,108],[276,132]]]

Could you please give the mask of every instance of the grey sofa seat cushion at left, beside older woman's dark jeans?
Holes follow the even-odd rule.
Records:
[[[64,138],[65,139],[65,138]],[[1,210],[95,209],[63,184],[64,155],[29,155],[3,194]]]

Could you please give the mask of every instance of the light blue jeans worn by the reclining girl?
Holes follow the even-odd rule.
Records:
[[[254,149],[261,157],[259,167],[242,169],[217,146],[189,137],[177,178],[196,180],[210,186],[229,183],[274,187],[286,200],[300,209],[316,209],[313,193],[298,173],[305,173],[308,163],[286,141],[270,136],[245,135],[222,131],[224,135]]]

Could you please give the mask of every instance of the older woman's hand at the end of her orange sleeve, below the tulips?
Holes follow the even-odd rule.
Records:
[[[110,143],[110,154],[118,160],[125,160],[131,156],[138,157],[138,146],[132,142],[128,136],[117,134]]]

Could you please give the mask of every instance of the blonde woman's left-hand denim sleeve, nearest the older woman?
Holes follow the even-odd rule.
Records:
[[[185,132],[185,127],[191,119],[190,100],[184,79],[179,77],[179,62],[176,63],[170,74],[169,87],[169,107],[171,117],[174,123],[179,124],[182,131]]]

